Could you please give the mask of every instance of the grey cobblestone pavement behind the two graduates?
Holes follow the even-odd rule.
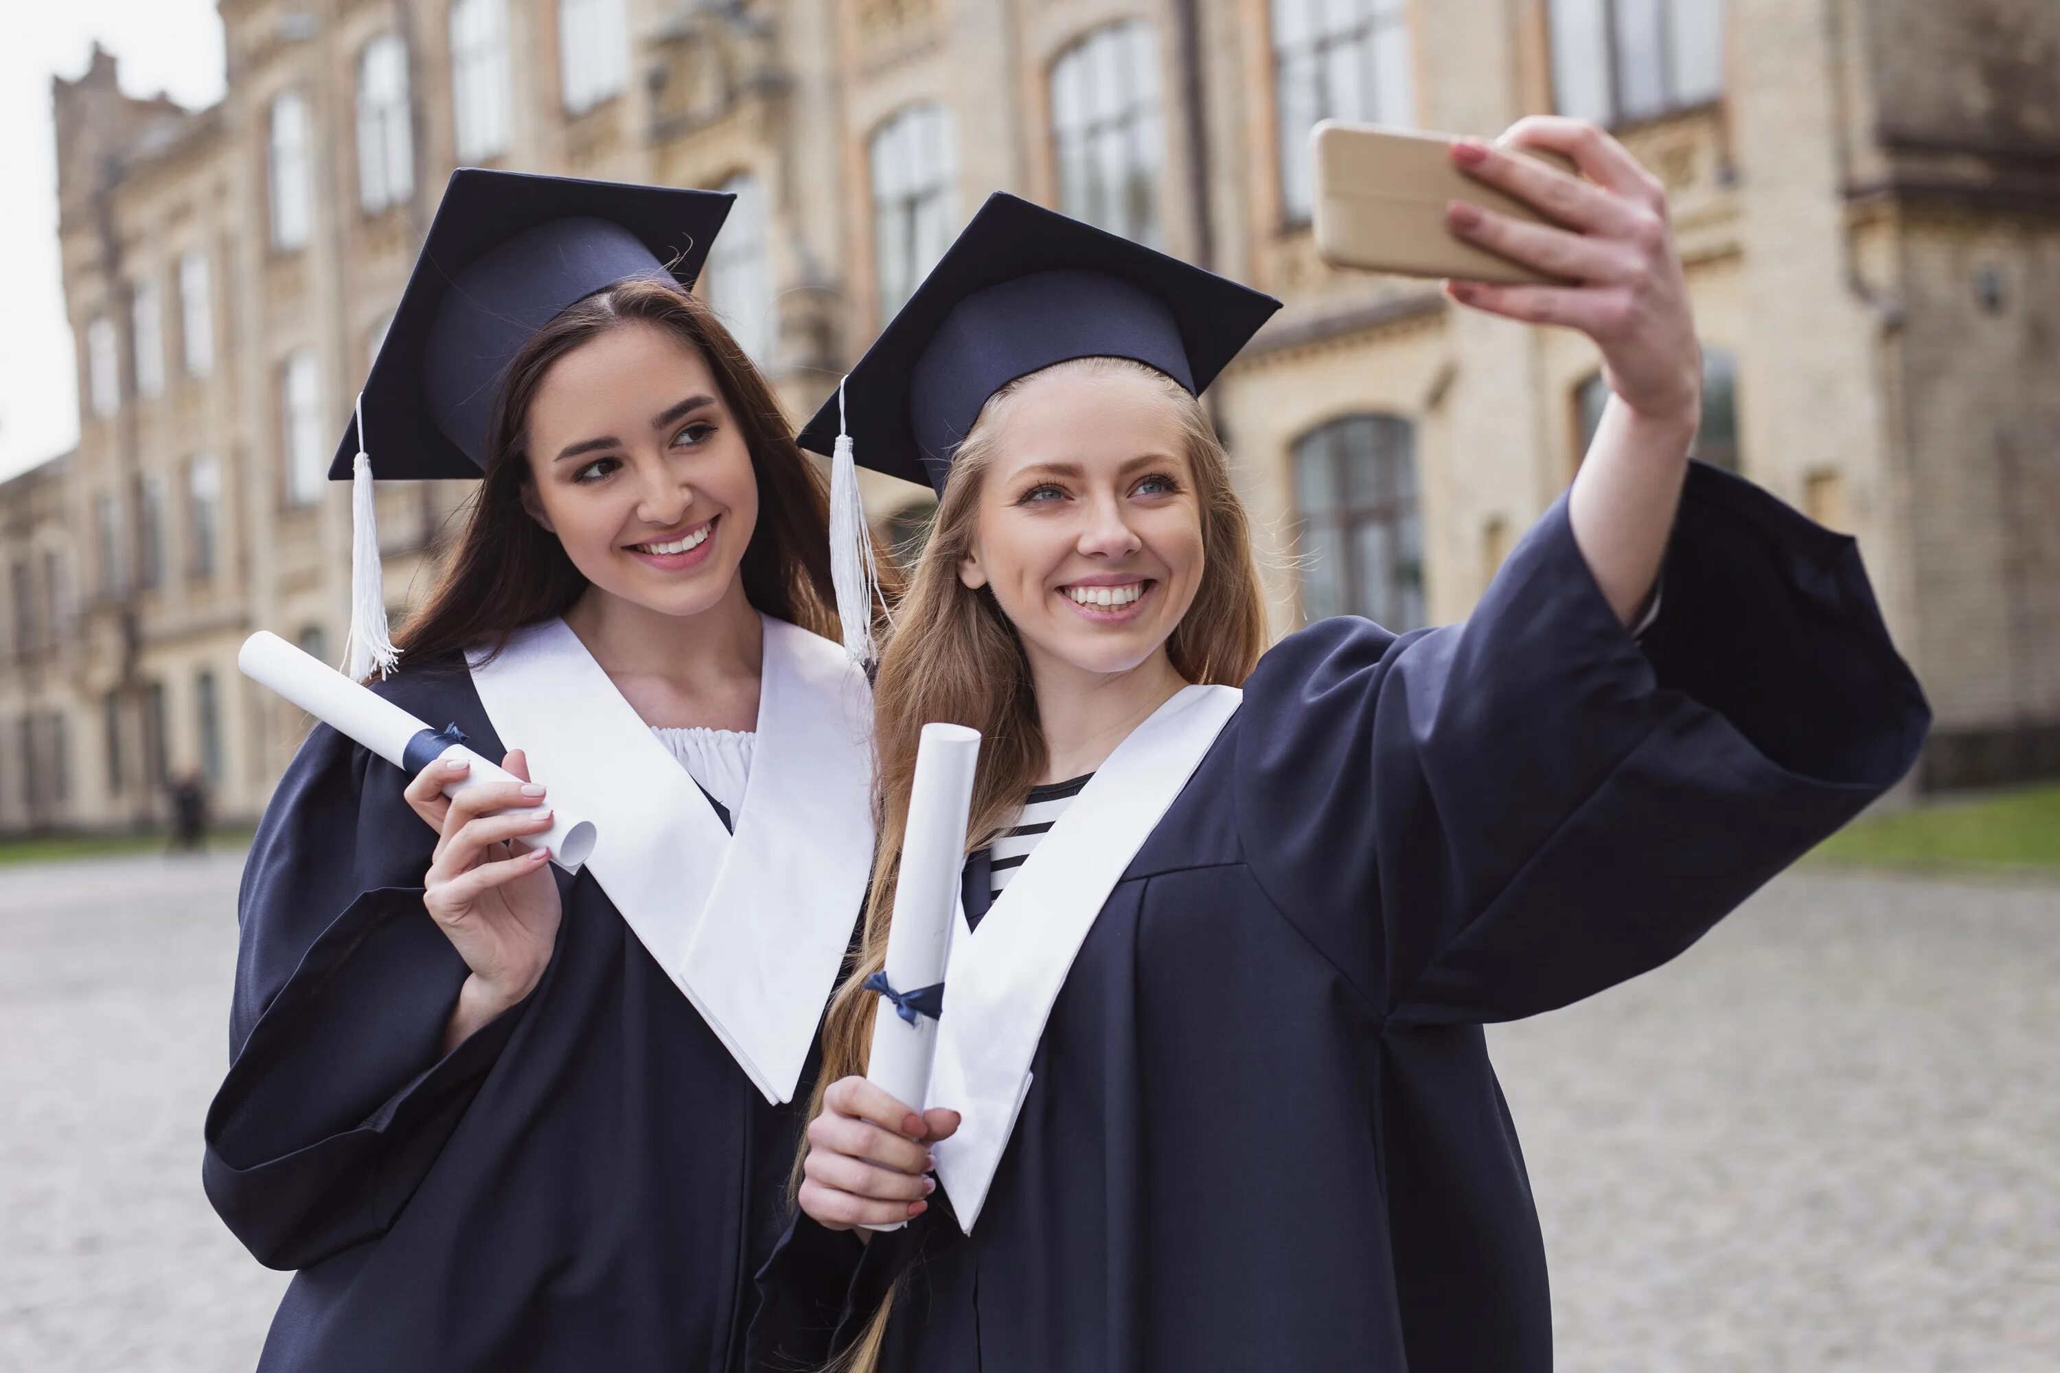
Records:
[[[0,869],[0,1369],[255,1361],[284,1276],[200,1194],[235,879]],[[2060,887],[1790,875],[1491,1046],[1561,1373],[2060,1369]]]

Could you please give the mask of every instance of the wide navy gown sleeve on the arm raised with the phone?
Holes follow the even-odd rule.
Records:
[[[1693,463],[1642,638],[1561,496],[1467,622],[1281,640],[1246,683],[1238,825],[1390,1023],[1516,1019],[1687,949],[1928,723],[1854,541]]]

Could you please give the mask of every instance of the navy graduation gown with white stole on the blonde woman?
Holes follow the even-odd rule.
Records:
[[[1543,1373],[1481,1025],[1681,953],[1928,727],[1852,539],[1704,465],[1642,640],[1561,496],[1465,624],[1329,620],[1236,696],[1168,702],[958,928],[943,1186],[865,1249],[797,1219],[768,1367],[898,1280],[892,1371]]]

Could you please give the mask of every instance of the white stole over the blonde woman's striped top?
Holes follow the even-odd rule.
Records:
[[[1096,770],[978,930],[966,928],[960,910],[925,1105],[962,1116],[958,1134],[931,1153],[968,1235],[1016,1132],[1030,1060],[1088,928],[1242,700],[1224,685],[1174,694]]]

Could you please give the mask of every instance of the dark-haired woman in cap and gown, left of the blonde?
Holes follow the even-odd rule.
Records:
[[[527,784],[317,727],[266,811],[204,1161],[299,1270],[264,1369],[740,1361],[873,819],[824,482],[686,290],[727,200],[457,173],[332,469],[484,469],[398,648],[360,525],[350,667]]]

